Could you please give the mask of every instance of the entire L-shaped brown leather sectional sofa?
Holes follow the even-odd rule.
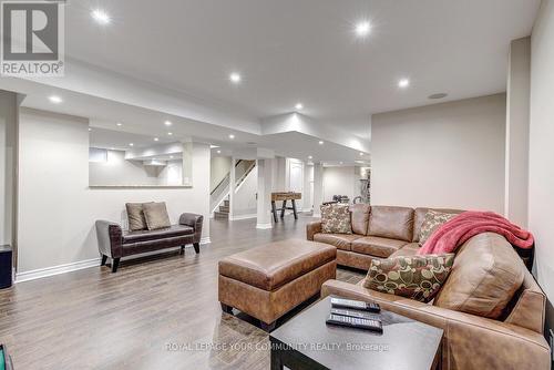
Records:
[[[371,258],[417,253],[427,209],[363,207],[352,209],[352,228],[363,230],[367,219],[366,235],[326,236],[317,233],[315,223],[308,226],[308,238],[327,240],[342,255],[339,263],[366,269]],[[447,281],[430,304],[367,289],[363,280],[328,280],[321,295],[376,301],[386,310],[442,328],[441,369],[551,368],[544,338],[546,297],[497,234],[476,235],[459,248]]]

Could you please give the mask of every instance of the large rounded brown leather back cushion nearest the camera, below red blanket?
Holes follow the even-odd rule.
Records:
[[[458,250],[434,305],[497,319],[522,286],[524,273],[523,261],[503,236],[475,235]]]

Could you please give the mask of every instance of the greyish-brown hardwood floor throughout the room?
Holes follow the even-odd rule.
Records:
[[[213,220],[212,244],[0,290],[0,342],[16,369],[268,369],[268,335],[222,314],[217,261],[265,243],[305,238],[310,217],[269,230],[255,219]],[[357,282],[358,271],[338,270]],[[309,302],[308,302],[309,304]],[[288,315],[306,308],[304,305]]]

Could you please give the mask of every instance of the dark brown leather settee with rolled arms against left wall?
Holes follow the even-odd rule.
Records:
[[[192,244],[199,253],[202,223],[204,217],[195,214],[182,214],[177,225],[156,230],[123,230],[121,225],[107,220],[96,220],[99,251],[102,266],[107,257],[112,258],[112,273],[117,271],[121,257],[160,250]]]

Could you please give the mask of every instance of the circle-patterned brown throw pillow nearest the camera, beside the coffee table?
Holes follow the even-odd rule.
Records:
[[[454,254],[373,259],[363,286],[428,302],[447,280],[453,263]]]

